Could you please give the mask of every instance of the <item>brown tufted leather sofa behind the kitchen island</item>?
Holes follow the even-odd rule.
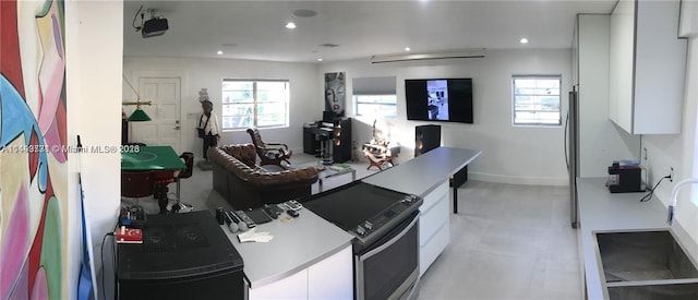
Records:
[[[306,167],[268,171],[256,165],[252,144],[224,145],[208,148],[213,165],[214,190],[236,209],[261,207],[311,194],[317,170]]]

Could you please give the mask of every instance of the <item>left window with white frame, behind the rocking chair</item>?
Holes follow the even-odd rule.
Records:
[[[222,129],[288,127],[288,81],[222,80]]]

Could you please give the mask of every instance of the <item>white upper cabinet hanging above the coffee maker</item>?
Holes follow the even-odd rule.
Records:
[[[681,133],[687,46],[678,14],[678,0],[621,0],[613,10],[609,118],[629,133]]]

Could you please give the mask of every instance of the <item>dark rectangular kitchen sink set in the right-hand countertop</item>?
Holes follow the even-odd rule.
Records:
[[[610,299],[698,299],[696,263],[670,230],[595,236]]]

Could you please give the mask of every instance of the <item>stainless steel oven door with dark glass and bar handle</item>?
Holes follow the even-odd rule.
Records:
[[[398,299],[419,277],[419,217],[416,213],[376,244],[357,254],[357,298]]]

